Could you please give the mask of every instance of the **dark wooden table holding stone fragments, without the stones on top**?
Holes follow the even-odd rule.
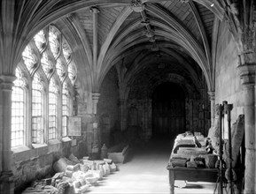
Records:
[[[218,180],[218,168],[180,168],[169,167],[169,184],[171,194],[175,194],[175,180],[189,182],[211,182],[216,183]]]

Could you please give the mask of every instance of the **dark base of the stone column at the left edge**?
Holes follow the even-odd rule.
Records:
[[[2,172],[0,175],[0,193],[13,194],[14,182],[12,171]]]

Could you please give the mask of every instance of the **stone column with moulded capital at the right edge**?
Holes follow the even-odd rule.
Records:
[[[255,193],[255,64],[237,68],[244,89],[245,172],[244,194]]]

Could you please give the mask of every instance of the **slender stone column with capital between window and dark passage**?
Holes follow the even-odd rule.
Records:
[[[93,132],[93,143],[92,143],[92,154],[93,157],[97,158],[98,154],[98,119],[97,119],[97,102],[99,99],[100,93],[92,93],[92,106],[93,106],[93,123],[92,123],[92,132]]]

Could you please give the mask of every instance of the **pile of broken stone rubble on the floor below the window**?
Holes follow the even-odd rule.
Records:
[[[60,158],[53,164],[56,172],[50,178],[35,181],[22,194],[77,194],[84,193],[96,185],[105,175],[117,170],[110,159],[89,160],[83,157],[78,160],[73,154],[68,159]]]

